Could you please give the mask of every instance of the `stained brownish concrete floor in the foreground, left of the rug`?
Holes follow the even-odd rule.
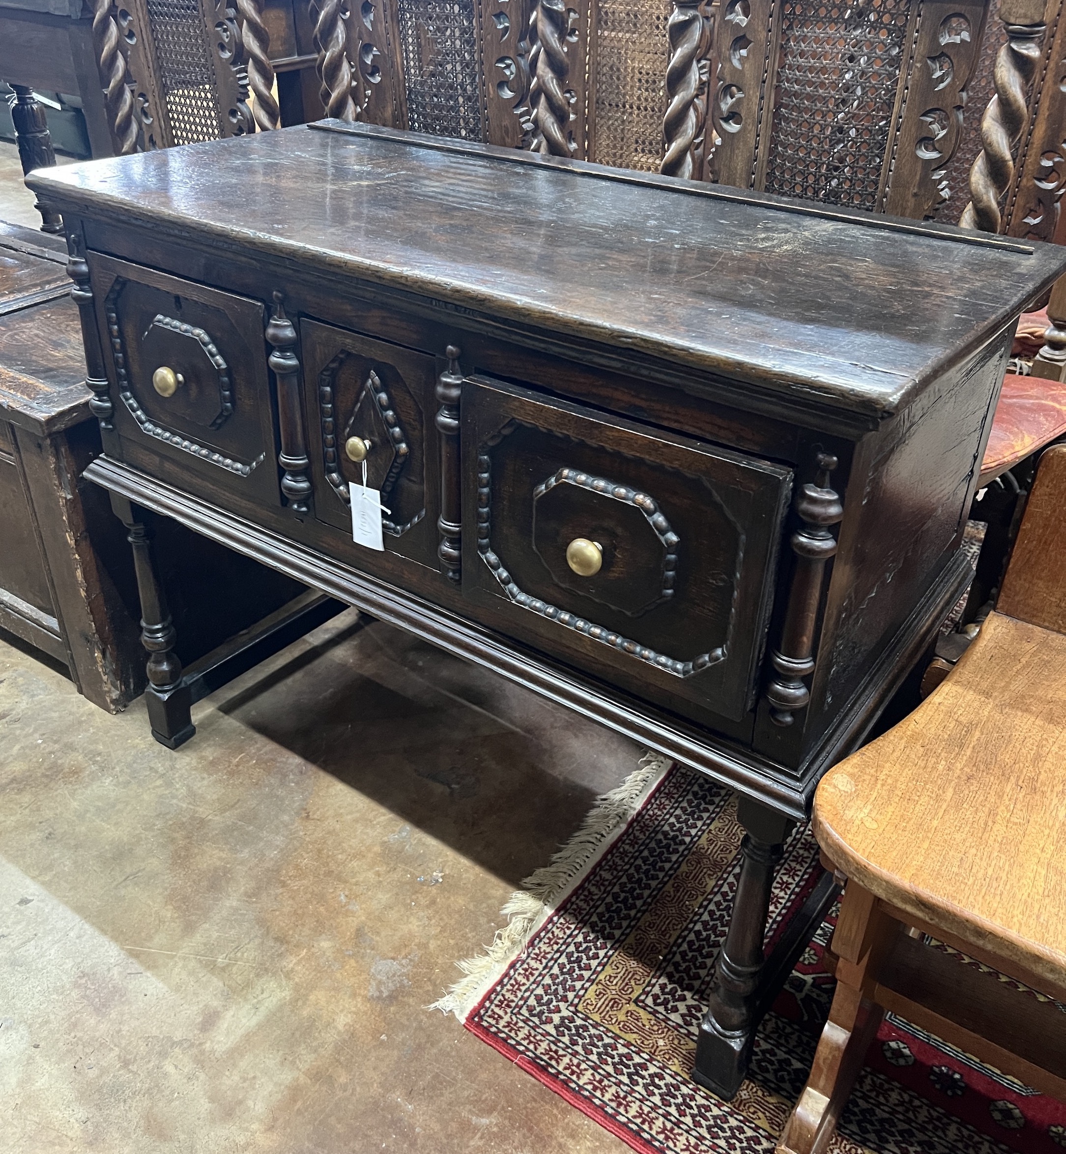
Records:
[[[171,751],[0,642],[0,1148],[625,1147],[426,1007],[639,750],[347,610]]]

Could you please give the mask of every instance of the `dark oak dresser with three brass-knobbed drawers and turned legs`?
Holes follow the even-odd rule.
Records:
[[[966,586],[1014,327],[1066,252],[340,121],[29,183],[157,736],[192,727],[142,510],[734,787],[696,1071],[733,1095],[833,893],[764,959],[781,844]]]

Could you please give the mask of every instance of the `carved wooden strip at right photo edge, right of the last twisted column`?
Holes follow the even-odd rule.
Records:
[[[1003,231],[1012,237],[1053,240],[1066,189],[1066,20],[1049,24],[1044,68],[1029,100],[1036,108],[1031,133],[1022,141],[1016,183]]]

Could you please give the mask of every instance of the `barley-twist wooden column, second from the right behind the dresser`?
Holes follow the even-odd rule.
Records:
[[[703,0],[674,0],[667,23],[670,59],[667,63],[667,111],[662,120],[665,155],[660,171],[667,177],[703,175],[704,132],[707,115],[705,59],[712,31]],[[750,43],[750,42],[749,42]]]

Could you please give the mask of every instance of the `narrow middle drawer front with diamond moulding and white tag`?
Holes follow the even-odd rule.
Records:
[[[300,343],[316,518],[347,541],[346,556],[373,562],[373,550],[352,540],[348,485],[362,484],[365,463],[388,510],[385,550],[436,568],[435,359],[306,317]],[[363,460],[352,459],[350,444]]]

